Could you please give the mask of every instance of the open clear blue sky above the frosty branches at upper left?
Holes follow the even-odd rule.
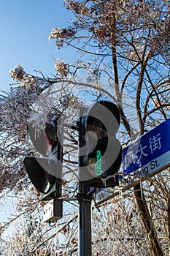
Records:
[[[48,40],[50,30],[69,26],[72,13],[62,0],[0,0],[0,89],[9,89],[9,70],[21,64],[26,72],[34,70],[51,77],[54,59],[71,61],[70,49],[58,50]]]

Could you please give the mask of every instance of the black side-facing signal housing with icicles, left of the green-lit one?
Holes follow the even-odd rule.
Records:
[[[31,141],[43,157],[26,157],[23,163],[32,184],[42,193],[42,200],[61,197],[62,129],[59,133],[57,124],[54,117],[46,122],[45,129],[38,132],[34,123],[28,125]]]

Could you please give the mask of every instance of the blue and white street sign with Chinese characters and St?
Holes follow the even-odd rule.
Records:
[[[115,189],[100,189],[96,195],[96,203],[112,198],[116,189],[125,191],[141,179],[153,176],[169,166],[170,118],[123,148],[119,186]]]

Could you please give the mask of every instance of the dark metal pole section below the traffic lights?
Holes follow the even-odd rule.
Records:
[[[80,182],[79,201],[79,256],[91,256],[91,199],[86,197],[90,187]]]

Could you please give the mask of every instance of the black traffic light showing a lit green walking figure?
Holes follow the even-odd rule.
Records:
[[[112,102],[101,100],[80,114],[80,181],[90,187],[115,187],[122,162],[122,147],[115,138],[120,111]]]

